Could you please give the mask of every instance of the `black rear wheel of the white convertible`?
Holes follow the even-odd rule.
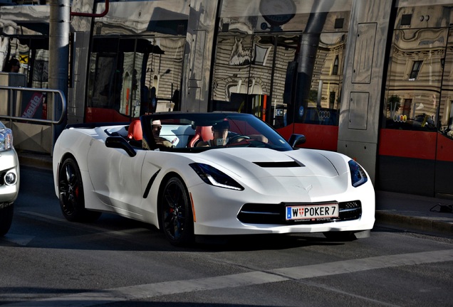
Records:
[[[80,169],[73,158],[67,158],[58,172],[58,195],[61,212],[71,222],[94,222],[100,212],[85,209],[83,182]]]

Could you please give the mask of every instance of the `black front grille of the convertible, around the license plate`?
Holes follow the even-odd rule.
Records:
[[[298,204],[302,205],[302,204]],[[304,205],[316,205],[308,203]],[[237,218],[246,224],[274,224],[274,225],[294,225],[294,224],[319,224],[326,222],[338,222],[345,220],[358,220],[362,215],[362,203],[360,200],[338,203],[338,217],[327,217],[318,220],[285,220],[284,204],[254,204],[248,203],[242,206]]]

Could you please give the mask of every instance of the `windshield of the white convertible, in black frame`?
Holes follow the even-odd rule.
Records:
[[[268,124],[251,114],[169,112],[141,117],[149,149],[204,151],[228,147],[292,150]]]

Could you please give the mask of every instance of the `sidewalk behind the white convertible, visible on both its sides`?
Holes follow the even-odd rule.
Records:
[[[20,165],[52,171],[52,158],[49,155],[20,152],[18,155]],[[376,224],[453,237],[453,212],[438,212],[438,204],[451,205],[453,200],[377,190]]]

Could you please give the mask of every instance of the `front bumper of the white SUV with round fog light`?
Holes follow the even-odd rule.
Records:
[[[7,184],[5,176],[8,173],[14,173],[16,181]],[[19,195],[19,158],[14,149],[0,152],[0,204],[3,207],[16,200]]]

